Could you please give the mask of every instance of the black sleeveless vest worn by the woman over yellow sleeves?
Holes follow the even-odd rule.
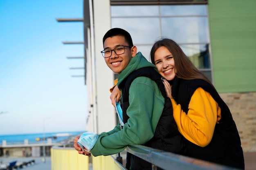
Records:
[[[187,114],[191,97],[199,87],[210,93],[218,103],[221,109],[221,119],[215,126],[210,144],[206,147],[195,145],[182,137],[186,146],[186,156],[244,169],[243,150],[236,124],[228,106],[216,89],[202,79],[184,80],[175,77],[172,82],[172,96]]]

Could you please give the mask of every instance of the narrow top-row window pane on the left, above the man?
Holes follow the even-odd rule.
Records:
[[[158,6],[111,6],[111,17],[158,15]]]

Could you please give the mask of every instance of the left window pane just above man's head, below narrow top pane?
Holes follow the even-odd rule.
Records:
[[[153,44],[160,36],[158,18],[112,18],[112,28],[125,29],[132,36],[133,44]]]

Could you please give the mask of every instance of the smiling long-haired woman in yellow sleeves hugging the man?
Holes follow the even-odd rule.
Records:
[[[173,117],[184,137],[184,155],[244,169],[236,124],[213,84],[173,40],[155,42],[150,57],[164,77]]]

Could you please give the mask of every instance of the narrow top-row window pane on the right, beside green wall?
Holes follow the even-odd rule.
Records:
[[[162,16],[207,15],[206,5],[161,5]]]

